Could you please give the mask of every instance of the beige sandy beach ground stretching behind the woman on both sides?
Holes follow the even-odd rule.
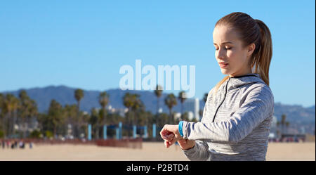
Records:
[[[313,160],[315,142],[269,143],[267,160]],[[98,147],[96,145],[34,145],[30,149],[2,149],[0,160],[187,160],[178,146],[143,143],[143,149]]]

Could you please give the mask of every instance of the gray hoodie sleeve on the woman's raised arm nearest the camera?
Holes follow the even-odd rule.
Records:
[[[242,141],[263,122],[274,108],[274,98],[266,86],[251,91],[242,106],[226,121],[183,122],[183,138],[214,143],[237,143]]]

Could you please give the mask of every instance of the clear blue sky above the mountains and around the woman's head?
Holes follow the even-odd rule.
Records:
[[[272,33],[275,102],[315,105],[315,1],[1,1],[0,91],[119,88],[119,67],[195,65],[196,97],[224,74],[212,32],[235,11]],[[178,91],[172,91],[178,94]]]

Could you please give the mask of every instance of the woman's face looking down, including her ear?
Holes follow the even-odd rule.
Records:
[[[237,32],[225,25],[215,27],[213,44],[216,49],[215,58],[223,74],[236,77],[252,73],[248,60],[254,52],[254,44],[242,48],[242,41],[238,39]]]

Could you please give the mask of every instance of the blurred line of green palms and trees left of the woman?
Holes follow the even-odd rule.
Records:
[[[56,136],[72,138],[85,138],[87,136],[88,124],[92,126],[92,136],[95,139],[102,138],[103,125],[113,126],[122,122],[123,135],[131,136],[131,126],[147,126],[148,135],[151,136],[152,124],[157,124],[158,129],[164,124],[176,124],[180,120],[190,120],[188,113],[183,112],[185,92],[180,91],[178,97],[169,93],[164,98],[164,104],[169,108],[169,114],[159,112],[159,101],[162,98],[162,87],[157,85],[154,90],[157,96],[157,112],[153,114],[145,110],[145,104],[136,93],[125,93],[123,105],[128,109],[122,117],[117,112],[109,112],[106,106],[110,103],[110,96],[106,91],[100,92],[98,102],[101,108],[91,108],[90,112],[80,110],[80,102],[84,98],[84,90],[76,89],[74,99],[77,104],[66,104],[62,106],[58,101],[52,99],[47,112],[39,112],[37,103],[31,99],[25,90],[15,97],[11,93],[0,93],[0,138],[55,138]],[[175,118],[173,107],[181,103],[180,118]],[[38,129],[30,130],[36,124]],[[140,131],[141,133],[141,131]],[[107,129],[107,136],[114,137],[114,129]]]

